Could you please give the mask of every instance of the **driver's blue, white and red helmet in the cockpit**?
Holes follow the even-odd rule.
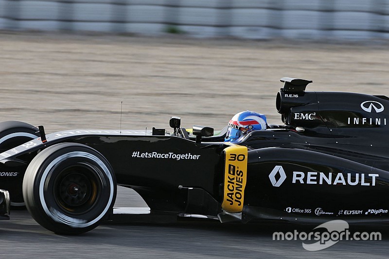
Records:
[[[236,141],[253,130],[265,130],[266,116],[252,111],[242,111],[234,115],[228,123],[228,130],[224,141]]]

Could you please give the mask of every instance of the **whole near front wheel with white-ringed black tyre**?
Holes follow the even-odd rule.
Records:
[[[31,161],[23,196],[37,223],[58,234],[80,234],[98,226],[111,212],[116,179],[106,158],[96,150],[60,143]]]

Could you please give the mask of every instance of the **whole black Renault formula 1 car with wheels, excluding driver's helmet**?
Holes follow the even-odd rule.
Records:
[[[137,216],[388,224],[389,98],[281,82],[276,108],[284,125],[234,143],[224,142],[226,130],[213,135],[210,127],[194,126],[188,135],[177,117],[172,133],[46,135],[42,126],[3,122],[0,188],[10,191],[12,204],[24,200],[39,224],[64,234],[122,213],[113,208],[117,185],[136,190],[149,206],[132,210]]]

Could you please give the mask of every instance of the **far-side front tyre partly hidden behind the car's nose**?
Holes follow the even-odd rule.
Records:
[[[32,139],[38,138],[36,128],[21,121],[0,122],[0,153],[13,149]],[[4,157],[1,157],[4,158]],[[24,170],[21,170],[24,172]],[[2,176],[0,188],[10,192],[11,206],[13,209],[25,208],[22,194],[23,173],[15,176]]]

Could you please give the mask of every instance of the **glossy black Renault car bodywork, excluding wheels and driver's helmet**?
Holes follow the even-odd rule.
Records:
[[[223,142],[222,134],[195,141],[139,130],[61,131],[1,153],[0,172],[13,174],[1,178],[0,188],[18,195],[30,161],[49,146],[69,142],[101,153],[117,184],[136,190],[151,214],[195,214],[221,222],[388,223],[389,99],[309,92],[310,81],[300,79],[282,82],[276,108],[284,125],[250,132],[233,144]],[[238,177],[226,152],[230,146],[247,148],[241,199],[236,186],[230,196],[225,189],[232,168]],[[231,204],[241,201],[242,209],[222,207],[229,198]]]

